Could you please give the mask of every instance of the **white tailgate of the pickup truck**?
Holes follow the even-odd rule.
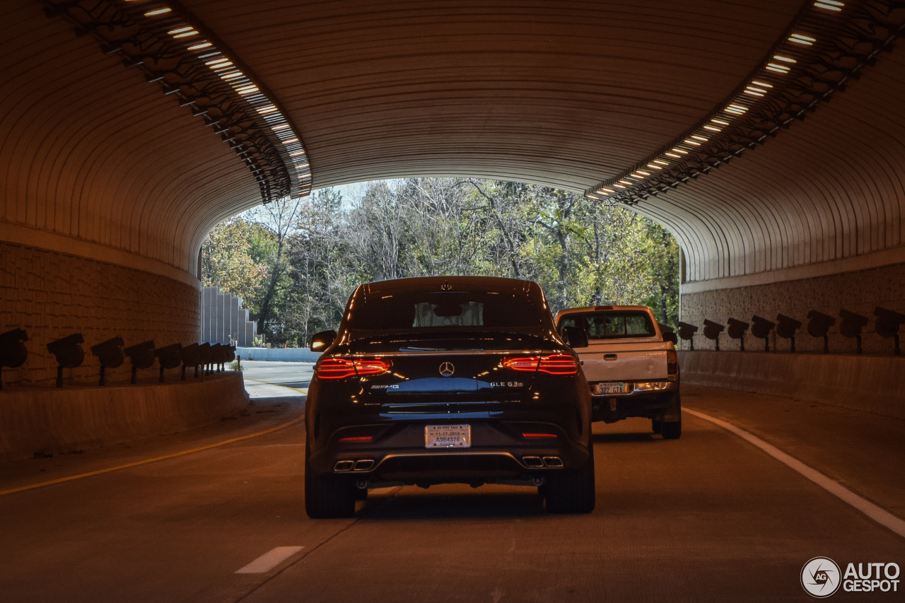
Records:
[[[646,381],[667,377],[662,342],[592,343],[578,351],[588,381]]]

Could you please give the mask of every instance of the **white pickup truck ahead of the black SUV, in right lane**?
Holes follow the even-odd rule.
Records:
[[[591,388],[595,421],[651,419],[654,433],[681,436],[679,360],[675,334],[665,335],[647,306],[595,306],[557,312],[557,330],[584,330],[574,348]]]

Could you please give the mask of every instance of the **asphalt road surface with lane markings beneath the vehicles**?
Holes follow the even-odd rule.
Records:
[[[302,504],[296,391],[307,387],[310,365],[282,365],[249,363],[250,391],[281,385],[259,389],[247,411],[214,426],[0,466],[0,600],[808,601],[800,571],[816,556],[843,570],[905,566],[905,538],[691,415],[676,441],[642,420],[595,425],[590,515],[547,515],[529,489],[447,485],[372,491],[354,519],[312,521]],[[753,421],[750,404],[733,410],[725,390],[689,393],[686,406]],[[902,455],[894,437],[887,444],[870,434],[905,433],[903,422],[846,413],[837,430],[855,425],[862,447]],[[834,451],[824,432],[805,426],[816,422],[801,418],[801,460],[813,458],[824,474],[862,475],[861,483],[902,482],[902,456],[885,461],[894,474],[886,464],[861,471],[865,461],[845,450],[851,437]],[[769,422],[758,420],[748,428],[771,438]],[[217,445],[224,441],[232,442]],[[775,439],[795,442],[786,432]],[[808,456],[814,447],[822,452]],[[122,465],[131,466],[8,492]],[[882,503],[899,491],[871,492]],[[840,589],[831,600],[903,600],[901,591]]]

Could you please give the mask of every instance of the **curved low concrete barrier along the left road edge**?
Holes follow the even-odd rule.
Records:
[[[185,431],[247,404],[241,372],[167,384],[5,391],[0,393],[0,460]]]

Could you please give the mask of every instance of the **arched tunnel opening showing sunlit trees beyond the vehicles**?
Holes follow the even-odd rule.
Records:
[[[202,282],[242,296],[264,340],[336,328],[357,284],[429,275],[538,282],[551,310],[640,303],[678,321],[679,248],[633,211],[552,187],[381,180],[274,201],[217,225]]]

